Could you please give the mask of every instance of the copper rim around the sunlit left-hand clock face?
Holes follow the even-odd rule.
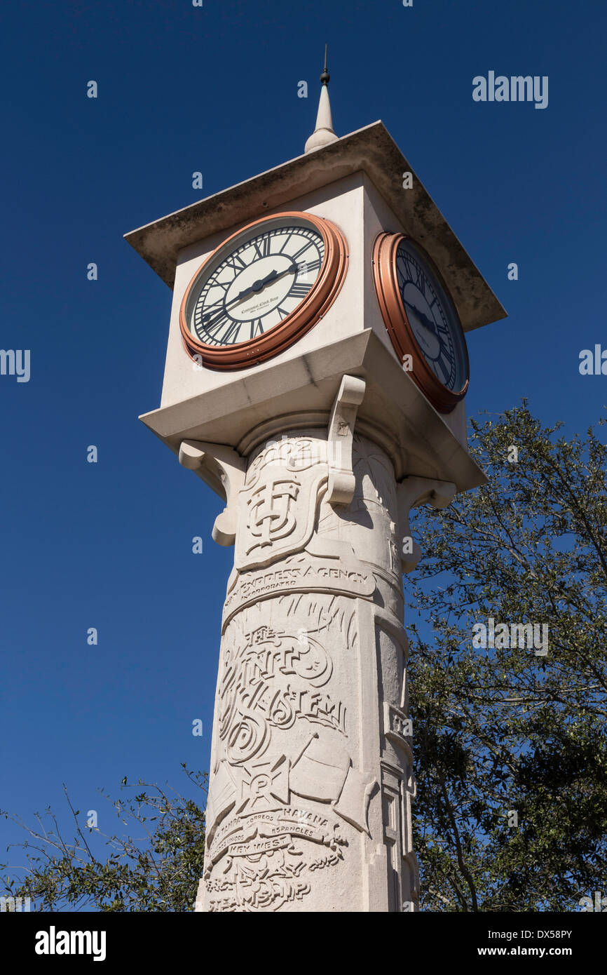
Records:
[[[244,342],[237,342],[232,346],[207,345],[190,331],[186,309],[190,296],[197,287],[206,270],[210,270],[220,252],[230,253],[230,245],[237,238],[245,239],[247,232],[254,236],[254,231],[264,224],[277,219],[293,219],[311,223],[321,234],[324,243],[324,254],[319,276],[310,292],[299,302],[296,308],[287,315],[280,325],[274,326],[261,337],[248,338]],[[247,223],[235,233],[227,237],[215,248],[212,254],[201,264],[190,281],[181,300],[179,309],[179,327],[188,355],[199,364],[213,370],[239,370],[248,366],[256,366],[283,352],[289,345],[310,331],[326,313],[335,300],[346,276],[348,268],[348,245],[341,230],[330,220],[313,214],[298,211],[285,211],[280,214],[261,216],[251,223]]]

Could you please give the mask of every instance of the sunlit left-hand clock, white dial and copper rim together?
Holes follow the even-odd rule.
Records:
[[[188,352],[211,369],[277,355],[318,322],[346,264],[341,232],[321,217],[282,214],[248,225],[210,255],[184,295]]]

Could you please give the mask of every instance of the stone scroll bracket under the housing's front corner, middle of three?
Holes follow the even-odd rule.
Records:
[[[352,439],[357,412],[365,390],[364,379],[342,376],[328,422],[328,489],[330,505],[350,504],[356,478],[352,470]]]

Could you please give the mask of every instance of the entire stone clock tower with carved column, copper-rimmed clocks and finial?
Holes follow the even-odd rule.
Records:
[[[127,235],[173,292],[143,423],[234,546],[196,910],[415,911],[409,512],[484,483],[465,335],[505,316],[381,122]]]

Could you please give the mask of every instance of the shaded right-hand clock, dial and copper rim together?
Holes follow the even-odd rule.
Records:
[[[398,358],[441,412],[466,395],[464,331],[428,254],[402,234],[380,234],[373,252],[375,287]]]

